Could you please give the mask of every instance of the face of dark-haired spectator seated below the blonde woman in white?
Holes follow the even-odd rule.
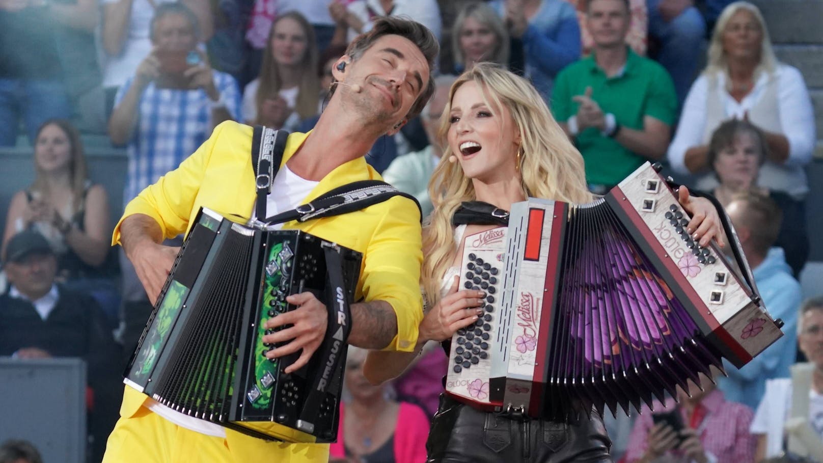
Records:
[[[718,152],[714,171],[721,184],[749,188],[756,183],[762,155],[753,133],[737,133],[732,144]]]

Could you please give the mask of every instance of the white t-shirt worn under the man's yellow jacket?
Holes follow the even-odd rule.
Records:
[[[288,166],[283,166],[274,176],[272,194],[269,194],[266,199],[267,217],[286,212],[304,203],[304,199],[309,196],[309,193],[318,183],[305,180],[292,172]],[[277,229],[281,227],[282,224],[275,226]],[[146,401],[146,408],[181,428],[206,434],[207,436],[226,437],[226,430],[221,425],[182,414],[151,398]]]

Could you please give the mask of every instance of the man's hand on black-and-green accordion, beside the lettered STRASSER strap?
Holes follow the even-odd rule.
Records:
[[[263,336],[263,342],[268,344],[281,344],[290,341],[288,344],[267,352],[267,358],[279,358],[302,349],[300,357],[294,363],[286,367],[286,373],[299,370],[309,362],[309,358],[314,354],[323,337],[326,335],[328,327],[328,311],[326,305],[320,302],[311,292],[300,292],[286,297],[286,302],[297,306],[293,311],[287,311],[266,322],[267,330],[291,325],[272,334]]]

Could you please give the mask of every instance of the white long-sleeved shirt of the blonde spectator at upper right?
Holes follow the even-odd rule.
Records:
[[[802,197],[808,188],[801,167],[811,161],[816,135],[814,111],[801,73],[796,68],[779,64],[774,74],[762,73],[752,91],[740,102],[737,102],[725,90],[726,80],[727,77],[723,72],[718,73],[716,77],[707,77],[702,74],[691,86],[689,95],[686,96],[683,104],[677,132],[667,152],[672,169],[679,173],[688,173],[685,163],[686,150],[690,147],[708,144],[712,131],[721,121],[732,118],[742,119],[748,114],[751,122],[760,126],[761,129],[770,131],[778,129],[788,138],[788,160],[781,167],[793,170],[792,174],[797,177],[790,183],[801,182],[802,185],[789,185],[788,189],[778,189],[787,191],[793,196]],[[709,96],[712,97],[712,101],[709,101]],[[770,124],[758,120],[758,108],[772,104],[770,101],[765,101],[767,99],[776,100],[774,112],[778,114],[771,116],[776,116],[779,128],[768,128],[766,126]],[[723,114],[707,114],[709,106],[717,107],[718,110],[723,111]],[[715,122],[707,122],[709,119]],[[712,126],[707,127],[707,124]],[[806,191],[801,193],[801,189]]]

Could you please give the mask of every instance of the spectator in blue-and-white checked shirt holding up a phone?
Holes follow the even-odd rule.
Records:
[[[179,166],[216,124],[240,114],[235,79],[212,71],[196,49],[198,18],[188,7],[181,2],[161,3],[151,30],[154,49],[120,87],[109,119],[112,142],[128,143],[123,204]],[[128,350],[146,324],[151,303],[131,263],[122,252],[119,255],[127,330],[123,340]],[[127,339],[131,333],[134,339]]]

